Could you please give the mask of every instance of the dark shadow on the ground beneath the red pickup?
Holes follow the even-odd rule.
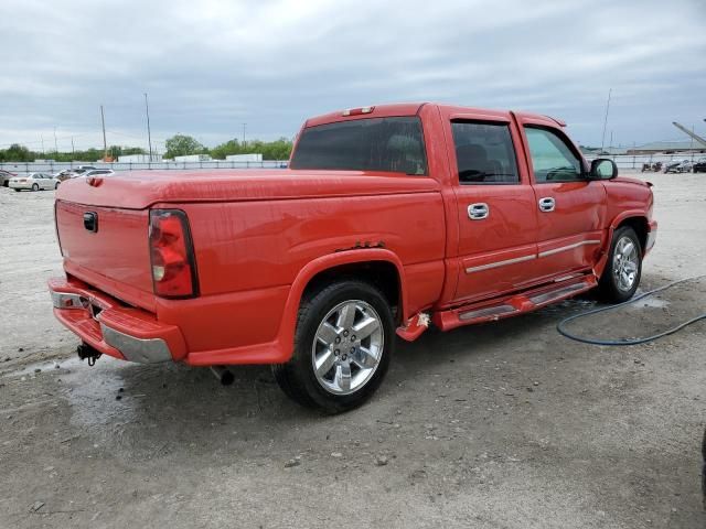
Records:
[[[542,350],[546,344],[537,339],[538,333],[553,331],[559,316],[585,310],[586,303],[590,302],[565,302],[451,333],[429,330],[411,344],[398,339],[391,371],[376,396],[361,409],[336,417],[291,402],[267,366],[234,367],[235,381],[227,387],[205,368],[111,358],[101,358],[93,368],[72,360],[61,376],[69,388],[72,427],[116,454],[151,458],[184,446],[212,452],[227,445],[265,455],[268,445],[292,443],[304,431],[321,435],[331,429],[375,431],[376,422],[394,420],[396,410],[424,403],[428,395],[415,388],[434,386],[435,377],[450,377],[468,392],[474,381],[463,376],[477,371],[484,357],[496,360],[499,348],[524,345]],[[293,445],[298,444],[295,439]]]

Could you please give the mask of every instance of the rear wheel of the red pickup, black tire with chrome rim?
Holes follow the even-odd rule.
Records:
[[[302,300],[292,357],[272,366],[272,374],[300,404],[341,413],[375,392],[394,343],[393,315],[384,295],[362,281],[335,282]]]

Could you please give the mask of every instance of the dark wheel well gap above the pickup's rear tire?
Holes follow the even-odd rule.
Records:
[[[393,309],[395,319],[402,317],[399,273],[397,267],[388,261],[351,262],[322,270],[309,280],[302,298],[313,295],[328,284],[346,279],[365,281],[379,289]]]

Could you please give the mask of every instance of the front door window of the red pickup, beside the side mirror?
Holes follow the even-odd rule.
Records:
[[[581,161],[558,134],[538,127],[525,127],[525,134],[536,183],[584,180]]]

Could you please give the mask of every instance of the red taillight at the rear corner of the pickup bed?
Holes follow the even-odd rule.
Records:
[[[189,220],[179,209],[150,212],[150,259],[154,293],[162,298],[199,295]]]

